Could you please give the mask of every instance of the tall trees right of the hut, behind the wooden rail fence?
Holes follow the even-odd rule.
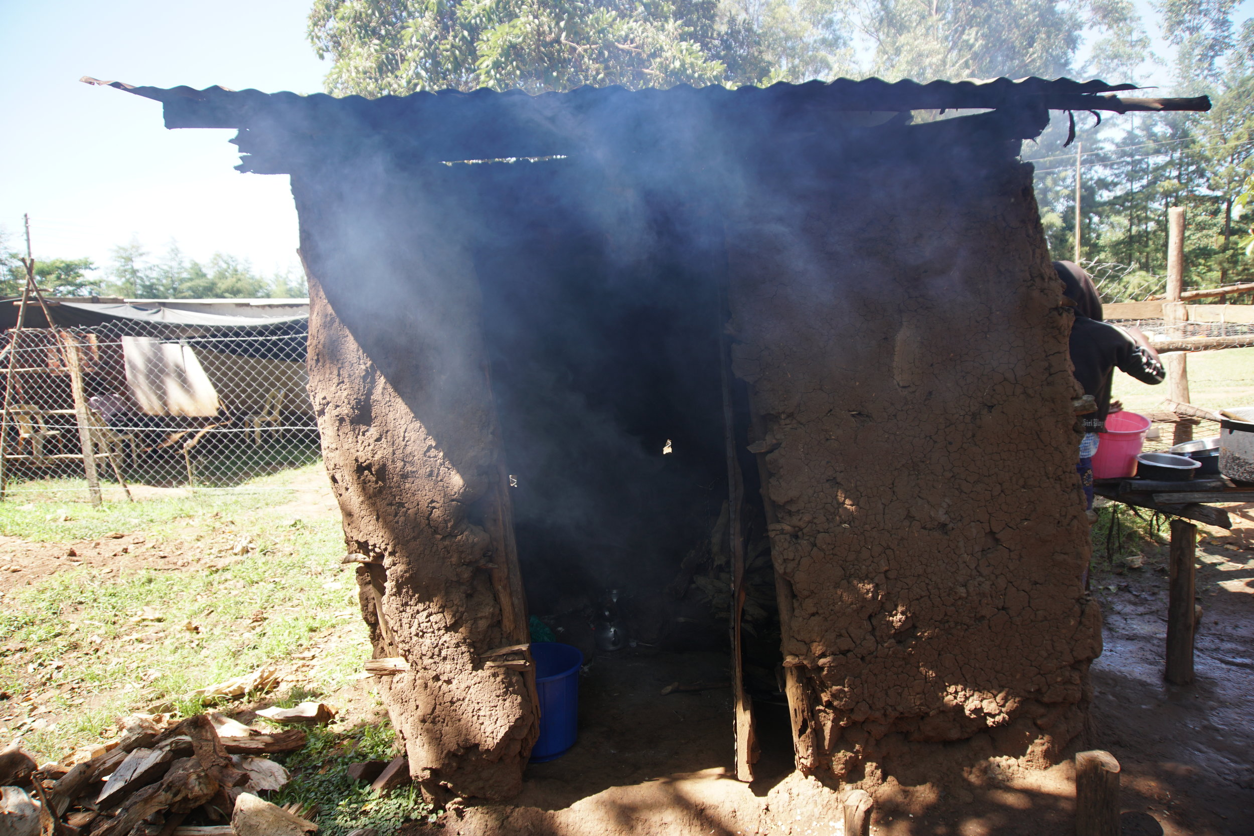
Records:
[[[1176,46],[1171,93],[1209,95],[1209,113],[1125,117],[1081,132],[1081,251],[1127,268],[1127,298],[1161,292],[1166,211],[1186,211],[1193,287],[1254,281],[1254,20],[1236,26],[1234,0],[1159,0],[1164,40]],[[1042,138],[1037,194],[1055,252],[1073,248],[1075,157],[1061,130]],[[1070,154],[1070,157],[1068,157]],[[1134,292],[1135,291],[1135,292]]]

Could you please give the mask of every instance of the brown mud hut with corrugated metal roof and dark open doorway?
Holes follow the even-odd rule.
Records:
[[[1101,643],[1071,320],[1020,152],[1051,110],[1204,99],[113,85],[291,175],[311,397],[428,793],[519,791],[534,673],[497,651],[529,614],[577,643],[601,618],[737,644],[741,777],[749,667],[779,673],[796,767],[831,786],[1047,766],[1081,731]],[[685,610],[698,577],[712,633]],[[746,637],[754,602],[775,612]]]

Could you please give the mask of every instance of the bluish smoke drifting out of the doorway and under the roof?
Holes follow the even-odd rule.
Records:
[[[495,417],[463,384],[490,380],[535,610],[607,587],[656,597],[709,536],[727,496],[720,331],[740,327],[724,295],[746,273],[729,259],[769,264],[756,282],[804,286],[813,305],[788,317],[819,355],[897,387],[927,379],[919,323],[967,303],[972,249],[938,232],[944,206],[910,206],[909,172],[952,167],[961,202],[982,177],[967,133],[1007,153],[1023,127],[1013,114],[912,127],[826,110],[813,93],[431,97],[414,105],[421,119],[391,122],[359,100],[340,105],[356,119],[324,118],[312,143],[275,128],[310,153],[292,180],[314,278],[468,484],[493,479]],[[834,217],[846,226],[825,237]],[[920,217],[937,227],[913,228]],[[904,267],[890,252],[903,239]],[[834,246],[846,271],[833,271]],[[910,286],[913,312],[894,283]],[[894,342],[834,351],[868,312]]]

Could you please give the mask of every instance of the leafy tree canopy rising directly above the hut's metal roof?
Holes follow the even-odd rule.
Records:
[[[1184,0],[1181,0],[1184,1]],[[1139,64],[1131,0],[315,0],[327,90],[770,84],[1063,75]]]

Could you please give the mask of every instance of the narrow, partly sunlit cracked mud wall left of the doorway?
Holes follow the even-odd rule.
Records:
[[[401,188],[404,185],[404,188]],[[438,179],[292,178],[310,281],[310,395],[410,772],[433,797],[504,798],[537,734],[479,290]],[[444,233],[441,234],[441,231]]]

